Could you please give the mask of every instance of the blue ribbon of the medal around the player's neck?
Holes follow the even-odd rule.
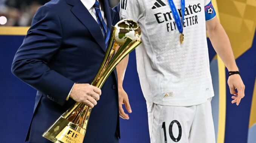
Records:
[[[180,0],[181,12],[182,12],[181,20],[180,20],[179,12],[173,3],[173,0],[168,0],[168,2],[169,2],[169,6],[171,8],[171,12],[173,14],[173,18],[175,20],[176,26],[177,26],[180,34],[182,34],[183,33],[184,15],[185,15],[185,0]]]

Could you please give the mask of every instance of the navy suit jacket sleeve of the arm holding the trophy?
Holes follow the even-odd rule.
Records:
[[[61,44],[62,28],[59,17],[49,6],[42,6],[35,14],[23,44],[15,54],[12,73],[54,98],[54,102],[63,105],[74,82],[47,66]]]

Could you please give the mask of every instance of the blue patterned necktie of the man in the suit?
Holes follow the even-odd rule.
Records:
[[[96,11],[96,16],[97,16],[97,21],[98,21],[98,24],[100,26],[100,29],[102,30],[103,32],[103,35],[105,37],[105,43],[106,43],[106,48],[108,46],[108,40],[109,40],[109,37],[110,37],[110,30],[109,28],[107,27],[103,17],[102,17],[102,14],[100,12],[100,4],[99,4],[99,1],[96,0],[95,4],[94,4],[94,9]]]

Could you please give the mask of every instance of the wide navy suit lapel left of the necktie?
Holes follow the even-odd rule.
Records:
[[[92,17],[89,11],[85,8],[80,0],[66,0],[69,5],[72,5],[72,13],[87,27],[93,38],[99,44],[104,52],[106,52],[105,39],[103,38],[102,30],[99,24]]]

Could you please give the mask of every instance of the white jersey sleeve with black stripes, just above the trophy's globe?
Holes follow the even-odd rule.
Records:
[[[120,0],[120,20],[131,19],[138,22],[142,14],[139,0]]]

